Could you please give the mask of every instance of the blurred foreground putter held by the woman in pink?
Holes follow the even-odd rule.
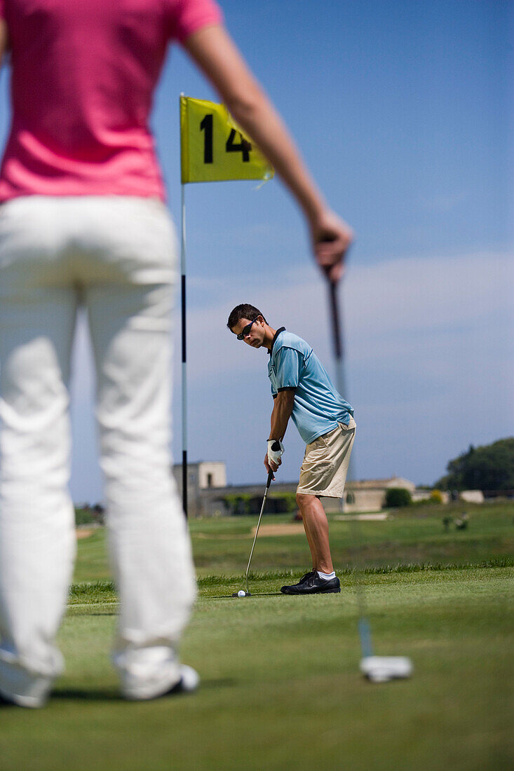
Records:
[[[341,396],[346,392],[344,382],[343,368],[343,338],[341,335],[341,324],[339,306],[337,303],[337,285],[329,280],[330,289],[330,308],[332,311],[332,333],[333,350],[336,359],[336,387]],[[350,461],[351,464],[351,461]],[[348,476],[350,476],[350,469]],[[360,565],[360,530],[357,520],[350,520],[353,523],[353,533],[357,543],[357,557],[355,559],[353,570],[353,586],[357,598],[357,609],[359,613],[359,638],[362,658],[360,660],[360,672],[363,673],[371,682],[387,682],[397,678],[407,678],[412,674],[412,662],[407,656],[375,656],[373,654],[373,643],[371,641],[370,622],[367,618],[367,601],[364,583],[362,580],[362,566]]]

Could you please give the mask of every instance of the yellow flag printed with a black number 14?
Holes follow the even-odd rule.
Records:
[[[223,104],[181,96],[182,184],[269,180],[275,173]]]

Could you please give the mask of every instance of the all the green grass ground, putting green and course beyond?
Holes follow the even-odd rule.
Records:
[[[348,523],[330,526],[341,594],[279,594],[284,577],[306,567],[293,533],[258,540],[253,596],[238,599],[230,594],[242,585],[255,518],[191,522],[200,594],[182,655],[202,685],[146,704],[117,694],[107,655],[117,598],[96,530],[79,540],[60,634],[66,675],[46,709],[2,711],[0,768],[506,768],[514,507],[468,511],[464,532],[443,532],[438,507],[363,523],[376,652],[408,655],[415,668],[410,680],[384,685],[358,672]]]

